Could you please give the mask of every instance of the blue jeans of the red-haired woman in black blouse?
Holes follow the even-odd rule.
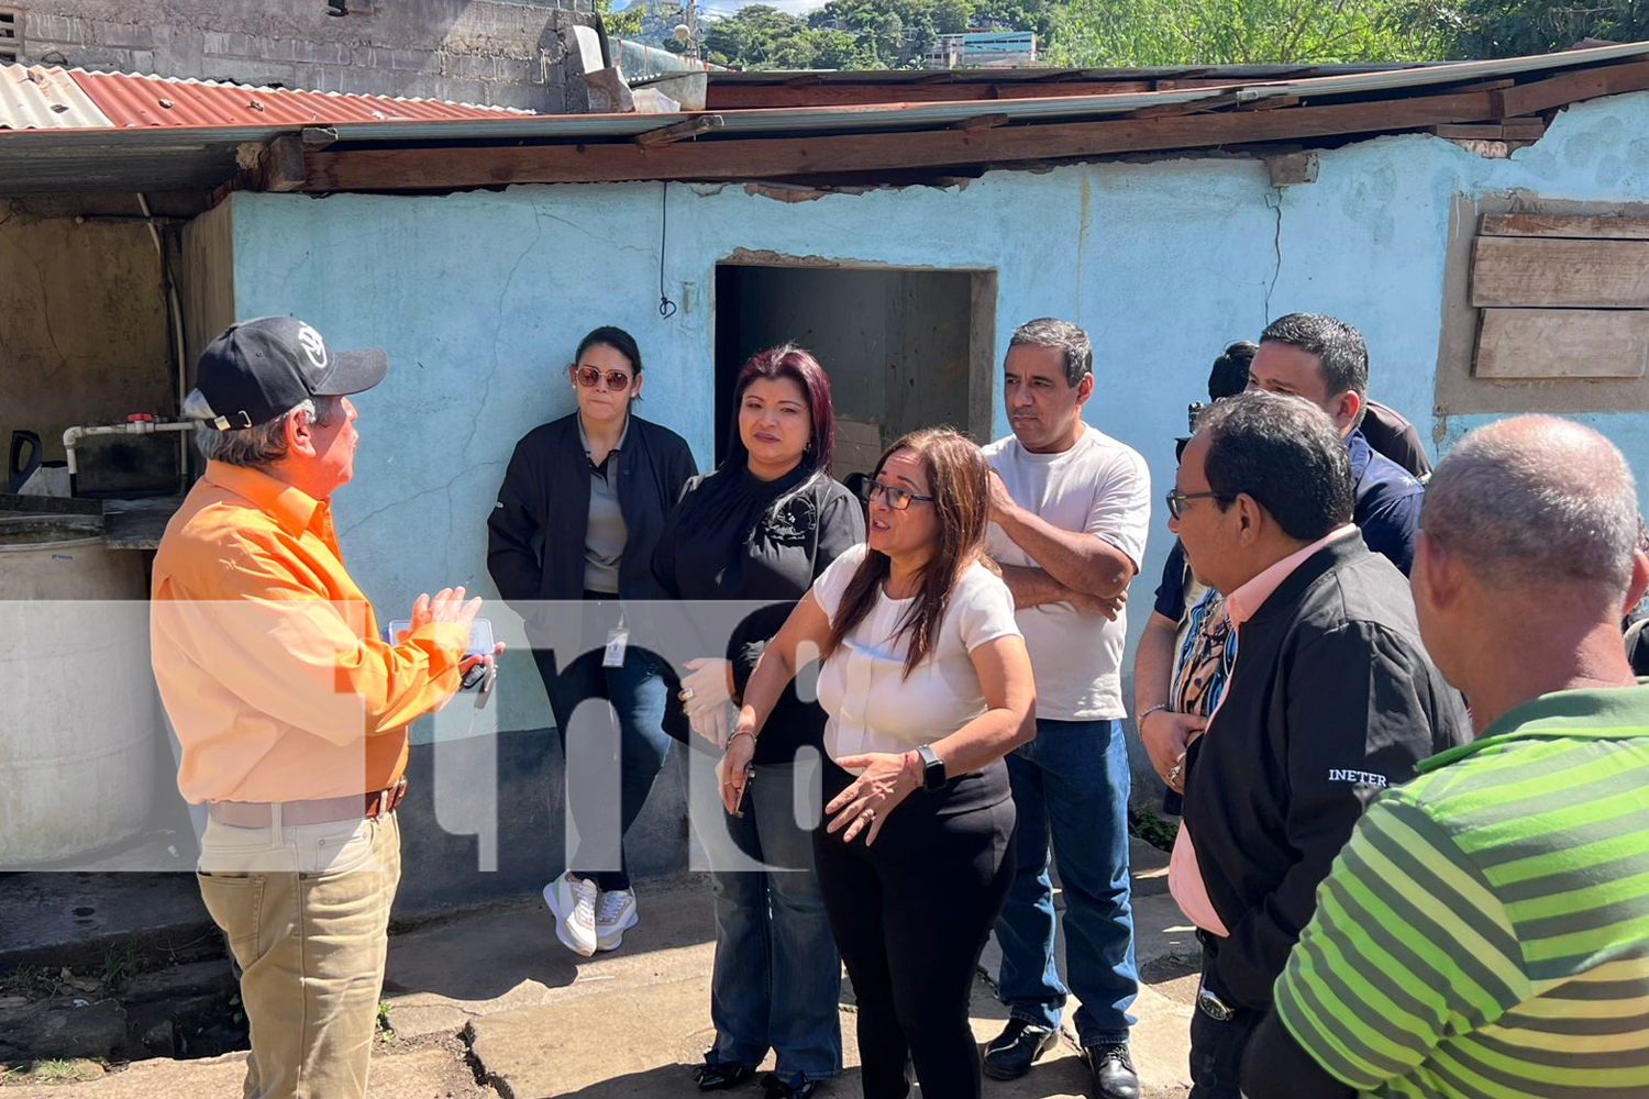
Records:
[[[798,796],[796,765],[762,765],[745,789],[744,817],[727,817],[739,850],[772,870],[712,870],[716,969],[711,975],[709,1059],[760,1064],[772,1048],[790,1084],[841,1073],[841,961],[831,939],[818,875],[813,824],[820,819],[818,768]],[[796,822],[796,806],[806,817]]]

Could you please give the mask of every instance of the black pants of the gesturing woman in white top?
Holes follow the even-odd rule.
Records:
[[[824,765],[824,801],[853,781]],[[829,821],[831,814],[824,816]],[[1008,771],[917,791],[866,847],[821,822],[813,834],[831,933],[859,1003],[866,1099],[904,1099],[915,1063],[922,1094],[980,1096],[980,1048],[968,1000],[980,954],[1014,877]]]

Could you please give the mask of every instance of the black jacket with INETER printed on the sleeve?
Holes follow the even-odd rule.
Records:
[[[1313,554],[1238,626],[1225,697],[1186,765],[1186,827],[1230,931],[1204,939],[1215,995],[1271,1003],[1364,807],[1469,728],[1408,583],[1359,539]]]

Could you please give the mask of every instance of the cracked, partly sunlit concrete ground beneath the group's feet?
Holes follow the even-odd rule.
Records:
[[[1149,1099],[1187,1094],[1196,941],[1167,896],[1166,857],[1135,844],[1136,954],[1146,975],[1133,1031]],[[411,873],[411,868],[409,868]],[[396,1030],[374,1056],[378,1099],[679,1099],[698,1094],[689,1066],[711,1040],[714,952],[709,883],[699,875],[643,882],[641,923],[620,951],[579,959],[554,938],[539,898],[424,926],[391,941],[384,998]],[[983,972],[994,974],[994,941]],[[1154,982],[1154,984],[1153,984]],[[843,995],[846,1074],[821,1096],[857,1094],[851,989]],[[1067,1010],[1067,1018],[1070,1012]],[[1006,1012],[981,974],[973,1027],[981,1041]],[[211,1061],[145,1061],[79,1084],[23,1084],[49,1099],[233,1096],[242,1055]],[[1069,1031],[1021,1081],[986,1081],[1001,1099],[1077,1099],[1087,1073]],[[760,1094],[749,1087],[732,1094]]]

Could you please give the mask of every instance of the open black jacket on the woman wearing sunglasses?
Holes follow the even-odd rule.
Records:
[[[618,511],[627,532],[618,596],[653,593],[653,549],[683,486],[698,473],[686,440],[630,414],[617,451]],[[498,593],[533,626],[528,603],[584,595],[584,534],[590,517],[590,461],[579,414],[536,427],[516,443],[498,506],[486,519],[486,572]]]

